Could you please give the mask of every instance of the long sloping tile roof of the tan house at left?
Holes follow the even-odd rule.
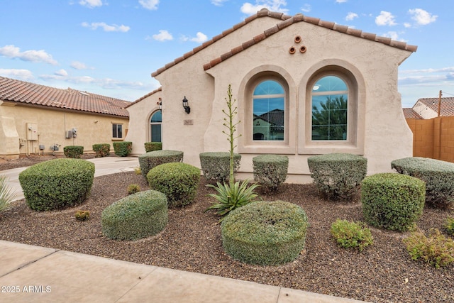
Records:
[[[80,92],[76,89],[57,89],[6,77],[0,77],[0,99],[122,117],[129,116],[125,107],[131,103],[99,94]]]

